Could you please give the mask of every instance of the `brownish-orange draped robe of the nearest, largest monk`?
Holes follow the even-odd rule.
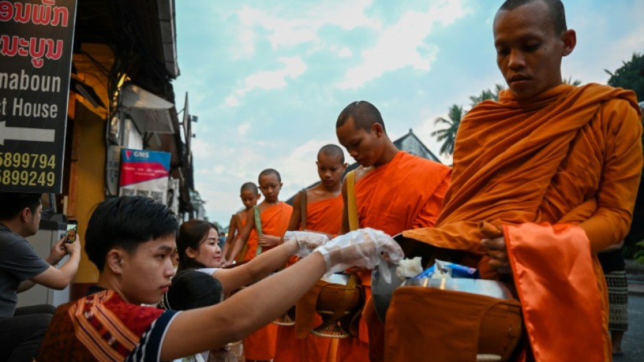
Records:
[[[580,88],[562,84],[531,101],[519,102],[509,91],[500,96],[499,102],[480,103],[461,122],[454,151],[454,177],[436,227],[410,230],[404,235],[441,248],[466,250],[470,252],[466,257],[469,264],[478,263],[482,276],[493,279],[496,276],[489,270],[487,258],[482,257],[486,250],[480,240],[488,235],[480,228],[480,222],[497,227],[525,222],[578,224],[593,252],[592,261],[587,262],[593,263],[604,295],[602,309],[607,323],[606,285],[594,253],[620,242],[631,222],[642,168],[642,130],[635,96],[630,91],[598,84]],[[566,261],[560,255],[552,255],[552,262]],[[513,277],[515,285],[520,286],[517,279],[521,275]],[[544,283],[548,277],[542,276]],[[550,292],[553,296],[566,293]],[[526,293],[530,291],[523,291]],[[555,308],[559,301],[543,302]],[[391,308],[395,308],[394,301]],[[580,321],[559,322],[565,326]],[[549,340],[555,346],[558,344],[554,339],[561,339],[565,331],[565,327],[536,331],[530,339],[542,341],[538,346],[547,346],[543,341]],[[412,330],[399,326],[399,333]],[[414,337],[410,343],[425,343],[417,335]],[[580,348],[597,349],[586,342],[592,338],[583,335],[566,340],[577,346],[557,351],[562,361]],[[606,331],[604,341],[604,350],[599,346],[599,352],[610,361]],[[540,353],[535,350],[534,354]],[[397,360],[395,355],[392,358],[391,361]]]

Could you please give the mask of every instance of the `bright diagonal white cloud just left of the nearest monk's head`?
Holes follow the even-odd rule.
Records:
[[[397,23],[380,31],[376,44],[362,51],[362,64],[347,70],[338,86],[360,88],[371,79],[406,66],[430,70],[438,49],[425,42],[425,38],[432,33],[435,24],[447,25],[465,14],[467,10],[460,1],[432,5],[425,12],[406,12]]]

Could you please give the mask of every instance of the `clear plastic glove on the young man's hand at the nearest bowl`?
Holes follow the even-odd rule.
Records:
[[[324,257],[327,273],[340,272],[353,266],[367,269],[380,266],[380,272],[386,280],[391,280],[391,274],[383,255],[386,254],[393,263],[404,257],[402,249],[391,236],[371,228],[340,235],[314,251]]]

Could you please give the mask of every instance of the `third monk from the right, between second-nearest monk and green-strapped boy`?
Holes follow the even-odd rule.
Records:
[[[288,230],[307,230],[324,233],[330,239],[337,235],[342,222],[342,175],[347,168],[342,148],[335,144],[323,146],[317,154],[320,183],[298,193],[293,199],[293,214]],[[306,197],[302,193],[306,192]],[[303,209],[304,207],[304,209]],[[306,213],[305,220],[302,214]],[[322,323],[317,313],[314,326]],[[334,361],[337,339],[317,337],[306,333],[298,339],[295,326],[277,327],[277,351],[273,362],[327,362]]]

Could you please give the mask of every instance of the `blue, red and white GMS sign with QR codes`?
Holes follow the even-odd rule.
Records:
[[[121,195],[146,196],[166,205],[170,153],[121,149]]]

